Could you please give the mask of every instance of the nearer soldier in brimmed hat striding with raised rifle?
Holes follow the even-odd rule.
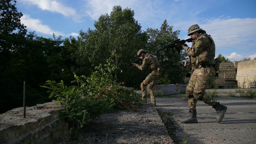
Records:
[[[206,94],[206,88],[215,76],[215,44],[212,37],[206,34],[197,24],[188,29],[188,36],[193,38],[192,47],[186,44],[176,44],[176,49],[185,50],[190,60],[188,62],[194,67],[194,72],[186,88],[186,97],[188,98],[188,107],[190,116],[181,123],[197,123],[196,102],[202,100],[208,106],[212,106],[216,112],[216,121],[219,123],[224,118],[227,110],[226,106],[214,101]]]

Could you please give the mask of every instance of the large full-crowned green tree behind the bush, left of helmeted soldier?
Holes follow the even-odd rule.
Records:
[[[79,62],[89,71],[94,71],[94,67],[100,63],[104,64],[111,54],[114,54],[114,63],[124,70],[129,62],[136,59],[137,51],[146,47],[148,36],[141,31],[130,8],[122,10],[120,6],[114,6],[110,15],[101,15],[94,27],[95,30],[89,28],[87,32],[80,31],[79,51],[76,53],[82,56]],[[128,68],[122,74],[116,73],[115,77],[120,82],[128,82],[127,78],[131,79],[133,72]]]

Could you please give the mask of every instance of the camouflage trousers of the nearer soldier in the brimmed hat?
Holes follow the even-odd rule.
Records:
[[[213,67],[196,68],[191,75],[188,86],[186,88],[186,96],[188,98],[188,107],[196,109],[197,100],[202,100],[208,106],[214,106],[216,101],[206,94],[205,90],[215,76]]]

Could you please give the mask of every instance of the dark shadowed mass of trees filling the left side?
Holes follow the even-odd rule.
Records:
[[[26,105],[33,106],[50,100],[39,87],[46,80],[73,78],[70,57],[74,49],[55,35],[47,39],[35,32],[26,34],[26,26],[20,23],[23,14],[15,5],[15,0],[0,2],[0,113],[22,106],[24,81]]]

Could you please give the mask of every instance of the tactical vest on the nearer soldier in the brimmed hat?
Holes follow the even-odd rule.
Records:
[[[204,50],[202,52],[200,52],[200,54],[198,54],[197,56],[189,56],[190,57],[190,64],[194,64],[195,66],[200,66],[201,64],[205,64],[205,65],[214,65],[215,64],[215,44],[214,41],[212,39],[212,37],[208,34],[202,34],[198,37],[198,39],[202,38],[202,37],[208,37],[210,39],[209,42],[209,46],[206,46],[204,48]],[[197,42],[197,40],[195,40],[192,43],[192,47],[194,46],[194,44]]]

